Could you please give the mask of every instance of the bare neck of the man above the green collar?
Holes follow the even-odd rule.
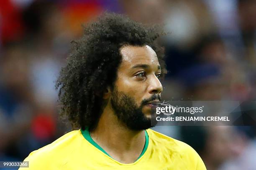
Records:
[[[145,145],[145,132],[133,131],[120,123],[111,110],[105,108],[91,138],[108,155],[120,163],[133,163]]]

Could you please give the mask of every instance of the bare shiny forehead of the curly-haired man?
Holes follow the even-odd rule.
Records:
[[[148,62],[158,63],[156,52],[148,45],[145,45],[145,46],[125,45],[121,47],[120,53],[123,57],[123,62],[148,61]]]

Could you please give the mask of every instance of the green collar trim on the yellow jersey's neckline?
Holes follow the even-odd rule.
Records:
[[[105,150],[103,150],[97,143],[95,143],[95,141],[91,138],[91,136],[90,136],[90,132],[89,132],[89,130],[88,130],[88,127],[87,128],[85,128],[85,130],[81,130],[81,132],[82,132],[82,135],[84,136],[84,138],[88,141],[88,142],[90,142],[92,145],[94,145],[96,148],[98,148],[99,150],[101,150],[103,153],[105,153],[106,155],[108,155],[108,153],[106,153],[106,151]],[[143,148],[143,150],[142,150],[142,153],[141,153],[141,155],[137,158],[137,160],[139,159],[139,158],[141,158],[141,156],[146,152],[146,150],[147,150],[147,148],[148,148],[148,142],[149,142],[149,139],[148,139],[148,133],[147,133],[147,131],[145,130],[145,138],[146,138],[146,141],[145,141],[145,145],[144,145],[144,148]],[[110,155],[108,155],[110,158],[112,158]],[[113,158],[112,158],[113,159]],[[136,160],[136,161],[137,161]]]

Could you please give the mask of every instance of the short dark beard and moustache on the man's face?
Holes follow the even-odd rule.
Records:
[[[114,114],[130,130],[146,130],[155,126],[142,112],[142,107],[152,100],[160,100],[159,95],[153,95],[149,99],[144,99],[138,106],[135,99],[124,92],[120,92],[114,87],[113,95],[110,99]],[[152,114],[151,114],[152,115]]]

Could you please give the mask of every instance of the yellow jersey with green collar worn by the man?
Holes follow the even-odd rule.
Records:
[[[20,170],[206,170],[189,145],[151,129],[145,130],[145,138],[139,158],[124,164],[100,148],[87,129],[74,130],[30,153],[24,160],[29,168]]]

